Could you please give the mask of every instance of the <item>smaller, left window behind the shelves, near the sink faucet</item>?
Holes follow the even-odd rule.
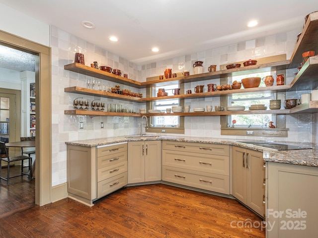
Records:
[[[153,97],[157,96],[157,93],[159,91],[159,88],[162,87],[156,87],[153,88]],[[174,88],[179,88],[178,84],[164,86],[164,90],[168,95],[173,95],[172,91]],[[170,100],[158,100],[154,101],[151,104],[151,108],[155,110],[160,110],[161,112],[165,113],[165,110],[167,108],[171,108],[172,106],[179,105],[180,99],[170,99]],[[151,127],[179,127],[180,126],[180,117],[179,116],[173,116],[173,113],[171,113],[171,116],[157,116],[157,117],[151,117]]]

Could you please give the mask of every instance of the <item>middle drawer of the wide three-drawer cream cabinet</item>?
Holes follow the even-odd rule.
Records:
[[[219,175],[230,175],[230,159],[228,156],[163,150],[162,165]]]

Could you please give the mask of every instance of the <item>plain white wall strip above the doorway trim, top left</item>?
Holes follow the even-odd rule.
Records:
[[[0,30],[16,36],[50,45],[50,27],[20,11],[0,3]]]

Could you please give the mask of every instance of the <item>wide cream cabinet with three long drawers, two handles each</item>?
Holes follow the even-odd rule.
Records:
[[[163,141],[162,180],[230,194],[229,146]]]

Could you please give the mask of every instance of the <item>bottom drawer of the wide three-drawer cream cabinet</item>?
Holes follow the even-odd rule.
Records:
[[[229,176],[226,175],[216,175],[163,166],[162,180],[213,192],[230,194],[230,179]]]

